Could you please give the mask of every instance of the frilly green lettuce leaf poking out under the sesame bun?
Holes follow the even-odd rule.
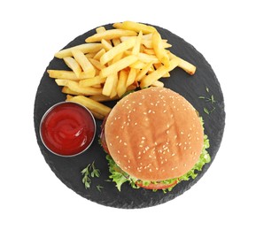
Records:
[[[200,118],[200,121],[201,121],[202,126],[204,126],[204,121],[202,118]],[[126,182],[128,182],[132,188],[140,188],[139,186],[136,185],[136,181],[143,182],[144,185],[149,185],[150,183],[164,183],[164,184],[171,185],[171,184],[174,184],[175,180],[177,180],[178,182],[176,184],[174,184],[173,186],[171,186],[170,188],[162,189],[163,192],[166,193],[168,191],[171,191],[182,180],[195,179],[198,176],[198,172],[202,171],[203,166],[211,161],[211,156],[208,153],[208,151],[206,150],[209,147],[210,147],[210,142],[209,142],[208,136],[205,134],[204,135],[204,147],[202,149],[202,153],[198,159],[197,164],[194,165],[194,167],[188,173],[185,173],[184,175],[182,175],[179,178],[174,178],[174,179],[169,179],[169,180],[161,180],[161,181],[142,181],[142,180],[138,180],[134,177],[131,177],[130,175],[128,175],[128,173],[125,173],[124,171],[122,171],[120,169],[120,167],[114,162],[112,157],[108,154],[106,156],[106,159],[107,159],[108,165],[109,165],[109,172],[110,172],[109,178],[113,182],[116,183],[116,187],[118,188],[119,191],[120,191],[121,185]]]

